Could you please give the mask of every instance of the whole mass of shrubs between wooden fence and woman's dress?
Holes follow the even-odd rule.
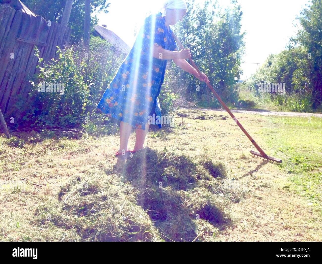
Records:
[[[37,47],[40,71],[33,89],[25,127],[80,127],[90,132],[109,133],[115,126],[106,115],[97,113],[96,106],[102,93],[114,77],[122,58],[109,49],[109,44],[92,37],[90,52],[82,45],[60,50],[59,59],[42,63]],[[39,66],[37,66],[39,67]],[[63,92],[38,92],[38,84],[61,84]],[[61,90],[60,90],[61,91]]]

